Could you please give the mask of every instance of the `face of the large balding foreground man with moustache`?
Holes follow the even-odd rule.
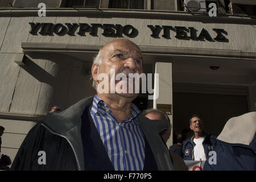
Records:
[[[129,76],[129,73],[138,73],[139,75],[142,73],[141,50],[136,44],[130,42],[129,40],[119,39],[106,44],[106,46],[101,49],[101,59],[102,63],[97,66],[97,73],[94,72],[96,74],[93,75],[93,78],[96,82],[101,82],[101,80],[98,80],[97,75],[100,73],[106,73],[109,77],[109,92],[111,86],[110,69],[114,70],[115,76],[117,76],[118,73],[125,74],[125,77],[122,77],[121,80],[115,81],[115,85],[117,85],[120,81],[124,82],[124,79],[126,81],[125,83],[128,83],[129,79],[127,77]],[[126,86],[126,93],[118,94],[124,97],[137,97],[138,93],[129,93],[128,84]],[[115,89],[115,92],[116,91],[117,90]]]

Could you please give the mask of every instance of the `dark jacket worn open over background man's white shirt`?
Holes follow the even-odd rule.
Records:
[[[191,137],[187,138],[187,140],[185,140],[185,142],[183,143],[182,151],[183,151],[184,160],[195,160],[194,147],[196,146],[196,143],[193,142],[194,138],[195,138],[195,135],[192,135]],[[209,151],[213,150],[215,143],[216,143],[215,135],[204,136],[203,146],[204,146],[204,153],[206,158],[209,154]]]

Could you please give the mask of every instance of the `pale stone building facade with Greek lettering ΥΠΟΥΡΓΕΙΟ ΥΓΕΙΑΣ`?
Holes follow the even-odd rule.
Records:
[[[205,1],[205,9],[190,3],[1,1],[2,154],[13,160],[53,105],[67,109],[95,94],[92,59],[118,38],[141,48],[145,73],[159,74],[154,93],[134,102],[141,110],[167,111],[172,135],[188,128],[192,114],[201,115],[207,133],[218,135],[229,118],[255,111],[255,1]],[[210,3],[217,16],[209,16]],[[148,94],[159,97],[148,100]],[[171,137],[167,145],[172,142]]]

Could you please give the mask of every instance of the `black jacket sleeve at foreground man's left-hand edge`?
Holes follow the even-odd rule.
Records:
[[[38,158],[40,142],[42,142],[43,127],[37,123],[28,132],[26,138],[23,140],[11,166],[11,170],[33,170],[33,164]]]

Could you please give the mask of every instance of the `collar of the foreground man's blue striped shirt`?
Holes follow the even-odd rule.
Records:
[[[108,105],[105,104],[105,102],[103,100],[101,100],[100,97],[98,97],[97,95],[94,96],[93,98],[93,105],[92,105],[92,109],[90,110],[92,112],[93,115],[95,115],[98,111],[98,107],[99,105],[101,105],[101,103],[105,106],[105,110],[109,110]],[[139,115],[139,113],[141,113],[141,111],[138,109],[137,106],[135,106],[133,103],[131,104],[131,117],[127,120],[131,120],[135,117],[137,117]]]

